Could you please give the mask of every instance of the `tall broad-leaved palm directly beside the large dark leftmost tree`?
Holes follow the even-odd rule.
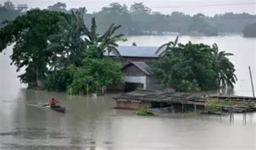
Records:
[[[69,64],[79,66],[81,64],[80,56],[86,47],[86,42],[82,39],[84,11],[85,9],[77,12],[71,11],[70,18],[63,18],[62,22],[58,23],[59,34],[48,37],[50,42],[48,50],[53,53],[51,57],[53,67],[64,67]]]

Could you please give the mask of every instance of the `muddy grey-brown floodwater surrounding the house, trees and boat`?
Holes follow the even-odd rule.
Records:
[[[174,37],[129,37],[122,45],[161,45]],[[216,42],[233,52],[238,84],[235,94],[251,96],[247,66],[255,77],[255,39],[180,37],[181,42]],[[9,50],[9,51],[8,51]],[[256,113],[229,116],[172,113],[139,117],[115,110],[112,97],[91,98],[27,90],[10,66],[10,47],[0,53],[0,149],[255,149]],[[255,80],[256,78],[254,78]],[[40,107],[52,96],[67,107],[65,114]]]

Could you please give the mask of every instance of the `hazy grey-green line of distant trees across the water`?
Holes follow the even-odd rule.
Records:
[[[85,4],[86,5],[86,4]],[[66,9],[65,3],[56,3],[48,6],[48,10],[71,12],[78,9]],[[0,22],[17,17],[20,12],[0,8]],[[6,14],[6,15],[2,15]],[[170,15],[153,12],[143,3],[133,3],[130,8],[125,4],[111,3],[102,10],[87,13],[85,11],[85,24],[90,26],[92,17],[96,17],[99,33],[107,30],[111,23],[122,25],[119,32],[126,35],[161,35],[163,32],[180,32],[181,35],[217,36],[218,33],[242,33],[247,24],[255,23],[256,15],[248,13],[227,12],[223,15],[207,17],[201,13],[190,16],[183,12],[174,11]],[[246,35],[245,35],[246,36]]]

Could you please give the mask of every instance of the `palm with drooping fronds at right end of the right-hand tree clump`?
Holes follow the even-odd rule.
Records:
[[[218,51],[217,44],[213,44],[213,58],[214,58],[214,68],[217,71],[218,78],[217,83],[219,87],[234,87],[233,84],[237,81],[237,76],[235,76],[234,65],[227,58],[228,56],[233,56],[232,53],[225,53],[225,51]]]

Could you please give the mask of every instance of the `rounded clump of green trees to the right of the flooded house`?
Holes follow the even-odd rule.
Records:
[[[171,42],[169,42],[171,43]],[[167,46],[165,46],[167,45]],[[164,49],[165,47],[165,49]],[[160,46],[161,58],[149,62],[154,76],[165,86],[177,91],[194,92],[218,87],[233,87],[237,80],[234,65],[227,56],[231,53],[205,44]]]

